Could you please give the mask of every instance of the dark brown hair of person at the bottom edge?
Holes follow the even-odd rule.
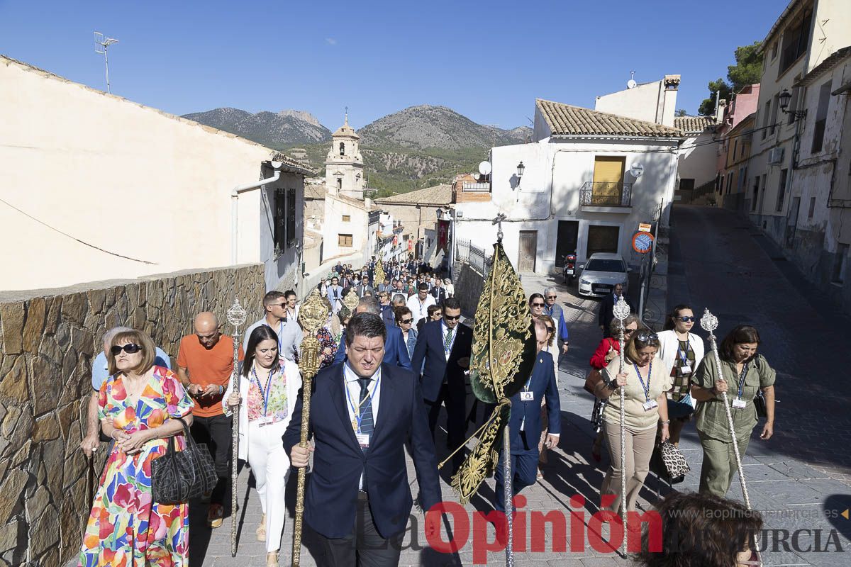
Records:
[[[645,567],[732,565],[762,530],[759,512],[711,494],[673,492],[656,509],[662,518],[662,545],[651,550],[649,531],[644,533],[636,559]]]

